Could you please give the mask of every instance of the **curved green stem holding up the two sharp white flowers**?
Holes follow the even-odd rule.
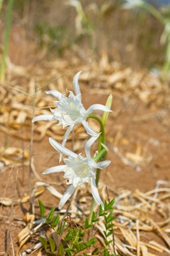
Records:
[[[104,130],[104,125],[103,125],[101,119],[99,117],[97,117],[97,115],[89,114],[88,117],[95,119],[100,125],[100,135],[99,135],[99,139],[98,139],[98,154],[97,154],[97,156],[95,156],[93,158],[97,162],[98,160],[101,160],[107,154],[107,151],[105,150],[105,148],[102,147],[102,143],[105,144],[105,130]],[[101,172],[101,170],[97,168],[96,178],[95,178],[96,186],[98,186],[98,183],[99,183],[100,172]],[[89,214],[89,223],[91,223],[91,218],[92,218],[94,207],[95,207],[95,200],[92,199],[91,207],[90,207],[90,214]]]

